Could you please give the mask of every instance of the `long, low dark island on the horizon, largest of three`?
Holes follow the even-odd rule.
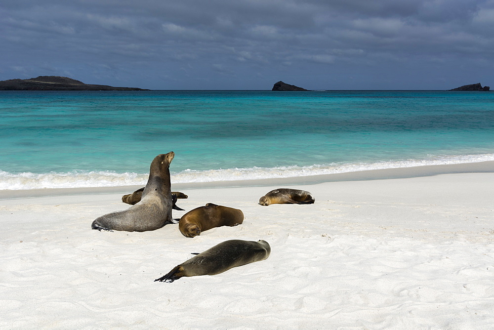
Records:
[[[31,79],[0,81],[0,90],[149,90],[134,87],[92,85],[75,79],[58,76],[40,76]]]

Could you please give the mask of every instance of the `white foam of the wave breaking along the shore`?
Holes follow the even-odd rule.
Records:
[[[249,167],[194,170],[171,174],[172,183],[200,183],[236,180],[290,178],[363,170],[414,167],[424,165],[467,164],[494,161],[494,154],[435,156],[425,160],[402,160],[378,163],[327,164],[310,166]],[[82,188],[145,185],[148,173],[111,171],[71,171],[66,173],[9,173],[0,170],[0,190],[41,188]]]

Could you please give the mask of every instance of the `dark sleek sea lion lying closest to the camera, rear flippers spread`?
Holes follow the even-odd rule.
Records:
[[[220,274],[233,267],[267,259],[269,253],[271,247],[266,241],[225,241],[181,263],[155,282],[171,283],[184,276]]]

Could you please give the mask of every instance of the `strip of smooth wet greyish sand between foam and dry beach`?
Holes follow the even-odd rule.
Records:
[[[213,181],[193,183],[173,183],[172,191],[191,189],[221,189],[221,188],[245,188],[266,186],[300,186],[315,185],[325,182],[341,181],[368,181],[384,179],[400,179],[412,177],[434,176],[453,173],[492,173],[494,161],[479,163],[463,163],[448,165],[423,165],[413,167],[397,167],[372,169],[344,173],[332,173],[312,176],[298,176],[289,178],[271,178],[237,181]],[[113,187],[84,187],[84,188],[43,188],[26,190],[0,190],[0,201],[24,198],[73,196],[73,195],[104,195],[104,194],[130,194],[142,188],[142,185],[113,186]]]

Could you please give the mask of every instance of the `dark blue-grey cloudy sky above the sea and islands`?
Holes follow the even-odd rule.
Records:
[[[0,80],[494,87],[494,0],[1,0]]]

